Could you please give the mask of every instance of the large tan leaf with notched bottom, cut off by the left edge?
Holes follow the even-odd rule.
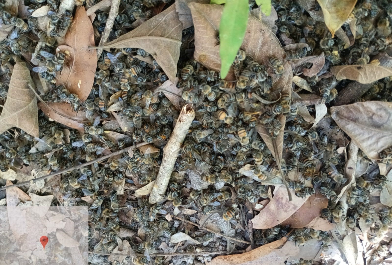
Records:
[[[7,101],[0,115],[0,134],[11,127],[18,127],[39,137],[37,100],[29,84],[34,87],[26,64],[16,64],[9,82]]]

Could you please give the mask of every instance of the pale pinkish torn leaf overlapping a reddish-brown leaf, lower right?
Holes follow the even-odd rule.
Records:
[[[268,229],[279,225],[292,216],[304,203],[307,198],[293,196],[289,201],[289,196],[285,187],[280,186],[274,191],[274,198],[252,219],[254,229]]]

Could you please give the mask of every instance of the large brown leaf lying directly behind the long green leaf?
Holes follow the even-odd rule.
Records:
[[[189,8],[192,12],[195,28],[194,58],[205,67],[220,71],[220,45],[217,36],[219,35],[218,29],[223,6],[190,3]],[[254,16],[249,16],[241,49],[246,51],[247,56],[249,55],[256,62],[265,65],[268,64],[270,57],[275,56],[282,60],[285,54],[272,30]],[[234,76],[232,75],[230,78],[232,79]]]

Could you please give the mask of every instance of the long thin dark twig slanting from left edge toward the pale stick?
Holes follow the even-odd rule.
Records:
[[[107,159],[107,158],[109,158],[109,157],[116,156],[116,155],[118,155],[118,154],[122,154],[122,153],[124,153],[124,152],[127,152],[129,149],[135,149],[135,148],[141,147],[141,146],[143,146],[143,145],[147,145],[147,144],[148,144],[148,143],[138,143],[137,145],[132,145],[132,146],[129,146],[129,147],[125,147],[124,149],[121,149],[121,150],[119,150],[119,151],[113,152],[113,153],[111,153],[111,154],[107,154],[107,155],[105,155],[105,156],[101,156],[100,158],[96,158],[96,159],[91,160],[91,161],[89,161],[89,162],[82,163],[82,164],[80,164],[80,165],[76,165],[76,166],[73,166],[73,167],[69,167],[69,168],[67,168],[67,169],[63,169],[63,170],[60,170],[60,171],[58,171],[58,172],[54,172],[54,173],[49,174],[49,175],[46,175],[46,176],[42,176],[42,177],[40,177],[40,178],[35,178],[35,179],[31,180],[31,181],[25,181],[25,182],[20,182],[20,183],[16,183],[16,184],[13,184],[13,185],[1,187],[1,188],[0,188],[0,191],[3,191],[3,190],[5,190],[5,189],[11,188],[11,187],[20,187],[20,186],[24,186],[24,185],[30,184],[31,182],[37,182],[37,181],[39,181],[39,180],[45,180],[45,179],[47,179],[47,178],[51,178],[51,177],[54,177],[54,176],[63,174],[63,173],[65,173],[65,172],[68,172],[68,171],[71,171],[71,170],[80,169],[80,168],[82,168],[82,167],[86,167],[86,166],[91,165],[91,164],[93,164],[93,163],[96,163],[96,162],[100,162],[100,161],[102,161],[102,160],[105,160],[105,159]]]

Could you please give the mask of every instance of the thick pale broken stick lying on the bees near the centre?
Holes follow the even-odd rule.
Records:
[[[192,120],[195,117],[195,112],[191,105],[186,104],[183,106],[176,126],[174,126],[173,133],[169,141],[163,148],[162,164],[159,168],[158,176],[156,177],[154,187],[152,187],[151,195],[149,198],[150,203],[157,203],[163,201],[163,195],[169,184],[169,179],[176,163],[178,152],[180,152],[181,144],[188,133]]]

